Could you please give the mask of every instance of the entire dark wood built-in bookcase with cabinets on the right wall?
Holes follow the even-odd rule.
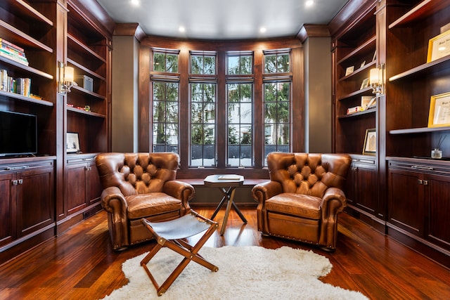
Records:
[[[450,30],[450,1],[351,0],[341,13],[351,7],[354,18],[330,22],[334,150],[354,159],[348,211],[450,266],[450,127],[428,126],[431,97],[450,92],[450,56],[428,59],[430,39]],[[358,87],[368,77],[359,62],[367,65],[375,49],[369,68],[383,66],[385,94],[373,111],[347,115],[346,107],[371,94]],[[351,66],[354,71],[346,74]],[[356,155],[369,128],[377,133],[373,168],[366,155]],[[437,145],[442,159],[431,157]]]

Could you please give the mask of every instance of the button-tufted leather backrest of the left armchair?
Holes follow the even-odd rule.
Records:
[[[175,180],[179,155],[164,153],[112,153],[98,164],[103,188],[116,186],[124,196],[162,192]]]

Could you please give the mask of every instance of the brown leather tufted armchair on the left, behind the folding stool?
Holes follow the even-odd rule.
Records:
[[[102,153],[96,157],[115,250],[150,240],[141,221],[169,221],[184,216],[194,195],[192,185],[176,181],[179,155],[173,152]]]

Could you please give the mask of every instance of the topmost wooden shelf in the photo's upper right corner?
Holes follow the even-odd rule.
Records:
[[[389,29],[394,27],[406,27],[411,22],[418,22],[430,17],[443,8],[450,6],[450,0],[425,0],[414,6],[408,13],[405,13],[400,18],[389,25]]]

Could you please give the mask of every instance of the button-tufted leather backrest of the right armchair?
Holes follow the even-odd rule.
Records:
[[[271,181],[281,183],[283,193],[323,197],[328,188],[342,189],[348,159],[342,155],[271,152],[267,155]]]

